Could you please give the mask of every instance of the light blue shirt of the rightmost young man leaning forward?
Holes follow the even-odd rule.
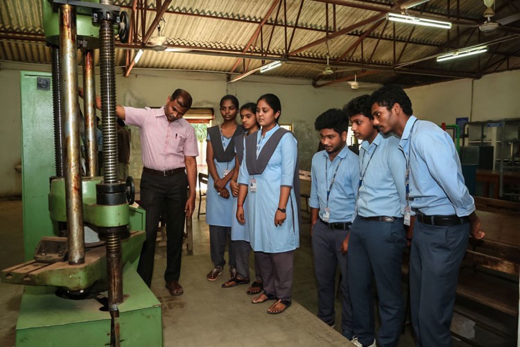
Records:
[[[450,135],[412,116],[400,142],[410,162],[410,207],[422,214],[464,217],[475,210]]]

